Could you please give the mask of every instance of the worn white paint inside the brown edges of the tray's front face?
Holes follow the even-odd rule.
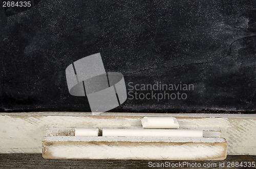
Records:
[[[181,146],[163,146],[161,148],[154,145],[150,146],[56,146],[50,149],[50,153],[55,158],[70,159],[175,159],[175,160],[195,160],[206,156],[211,159],[223,151],[221,146],[209,147],[199,145],[188,147],[186,144]],[[79,153],[78,153],[79,152]],[[102,153],[102,152],[108,152]],[[152,153],[154,152],[154,153]],[[170,153],[172,152],[172,153]],[[191,153],[195,152],[195,153]],[[222,158],[225,159],[225,158]]]

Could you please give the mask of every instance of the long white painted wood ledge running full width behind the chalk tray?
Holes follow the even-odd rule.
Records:
[[[44,140],[45,143],[48,142],[48,144],[45,144],[46,146],[63,146],[63,140],[62,142],[54,142],[49,139],[51,135],[49,130],[47,130],[49,126],[63,128],[141,129],[141,119],[144,116],[173,116],[177,118],[181,129],[196,128],[206,130],[205,133],[207,133],[207,130],[212,130],[215,132],[213,136],[220,135],[218,131],[218,129],[220,129],[221,137],[225,138],[227,141],[226,151],[228,155],[256,155],[256,114],[101,113],[92,115],[92,113],[81,112],[0,113],[0,153],[42,153],[42,140],[47,135],[48,137]],[[59,131],[55,132],[58,133]],[[67,131],[63,129],[62,133],[59,134],[60,136],[57,138],[61,139],[63,134],[72,135],[72,130],[68,133],[65,132]],[[52,135],[58,135],[56,133]],[[210,134],[212,134],[212,132]],[[50,138],[53,137],[54,136]],[[65,138],[67,139],[68,137],[66,136]],[[88,144],[86,138],[80,138],[80,140],[82,139],[82,144]],[[103,139],[103,137],[97,139]],[[118,139],[113,139],[110,142],[116,144],[120,142]],[[209,138],[203,138],[203,140],[207,142]],[[53,143],[49,144],[49,141]],[[174,142],[173,147],[169,147],[170,151],[174,151],[175,139],[172,138],[171,140],[169,139],[169,141]],[[222,140],[222,143],[224,143],[223,141],[224,140]],[[62,144],[60,144],[60,142]],[[73,146],[75,145],[74,142],[75,141],[72,143]],[[176,143],[178,143],[177,140]],[[148,148],[148,145],[146,146]],[[103,146],[101,148],[103,151],[105,147]],[[154,147],[151,148],[152,151],[154,151]],[[56,147],[54,149],[57,150]],[[141,149],[146,149],[146,147],[142,147]],[[117,150],[113,149],[110,151]],[[162,154],[162,159],[165,159],[164,157],[167,157],[167,155],[169,154]],[[211,159],[218,159],[218,156],[214,156],[214,153],[211,157]],[[198,156],[198,158],[203,159],[200,156]],[[167,159],[172,159],[172,157],[168,157]]]

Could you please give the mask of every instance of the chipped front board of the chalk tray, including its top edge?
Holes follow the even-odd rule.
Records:
[[[225,144],[223,138],[50,136],[43,141],[43,156],[53,159],[221,160],[226,158]]]

